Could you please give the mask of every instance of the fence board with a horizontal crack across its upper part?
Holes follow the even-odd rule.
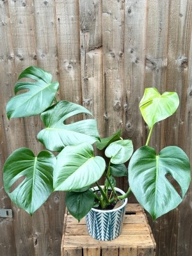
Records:
[[[79,1],[79,19],[83,105],[97,119],[100,136],[104,137],[102,1]]]

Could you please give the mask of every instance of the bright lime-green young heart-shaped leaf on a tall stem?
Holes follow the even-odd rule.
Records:
[[[164,92],[162,95],[156,88],[147,88],[140,102],[140,110],[148,127],[173,115],[179,106],[176,92]]]

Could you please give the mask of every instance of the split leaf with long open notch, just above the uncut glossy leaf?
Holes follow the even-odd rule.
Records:
[[[83,106],[65,100],[51,106],[41,115],[46,128],[38,133],[38,140],[53,151],[61,151],[67,145],[76,145],[84,141],[92,144],[99,140],[95,119],[81,120],[72,124],[63,123],[70,116],[80,113],[92,115]]]

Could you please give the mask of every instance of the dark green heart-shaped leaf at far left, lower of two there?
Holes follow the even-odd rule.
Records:
[[[6,193],[16,205],[33,214],[52,193],[55,164],[56,157],[47,150],[37,157],[29,148],[15,150],[3,168]]]

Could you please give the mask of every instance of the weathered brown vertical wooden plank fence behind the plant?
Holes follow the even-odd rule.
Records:
[[[6,102],[18,74],[29,65],[52,73],[60,99],[83,104],[99,122],[100,135],[123,129],[134,149],[147,127],[138,103],[144,89],[176,91],[179,111],[156,125],[157,151],[179,145],[192,159],[192,0],[1,0],[0,1],[0,255],[60,255],[64,193],[54,193],[30,217],[3,188],[6,158],[19,147],[38,153],[39,116],[8,121]],[[79,118],[79,117],[76,117]],[[118,186],[127,188],[127,180]],[[136,202],[131,198],[131,202]],[[192,187],[174,211],[148,221],[157,256],[191,256]]]

